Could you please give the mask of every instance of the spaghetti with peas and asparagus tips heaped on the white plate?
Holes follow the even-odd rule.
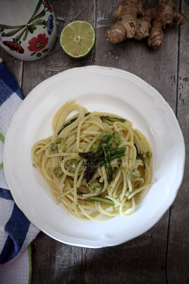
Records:
[[[67,119],[67,115],[78,113]],[[152,185],[152,151],[132,122],[91,112],[74,100],[58,109],[53,135],[32,147],[57,204],[76,220],[129,216]],[[128,210],[130,209],[130,210]]]

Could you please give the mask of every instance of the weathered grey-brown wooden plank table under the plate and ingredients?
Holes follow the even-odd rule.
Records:
[[[51,1],[58,27],[87,20],[96,30],[95,49],[84,60],[68,57],[57,40],[44,58],[22,62],[0,50],[5,66],[26,96],[37,84],[58,72],[78,66],[100,65],[132,72],[157,89],[172,107],[186,144],[182,185],[171,208],[148,232],[119,246],[88,249],[66,245],[40,232],[32,245],[33,284],[188,284],[189,283],[189,20],[164,32],[160,50],[146,41],[113,45],[105,38],[113,24],[118,0]],[[152,4],[154,1],[150,1]],[[176,1],[188,17],[187,0]]]

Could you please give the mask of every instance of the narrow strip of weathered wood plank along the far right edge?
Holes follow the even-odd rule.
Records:
[[[187,22],[180,28],[178,111],[186,147],[185,171],[182,185],[171,209],[167,275],[169,283],[189,283],[189,2],[182,1],[181,11]]]

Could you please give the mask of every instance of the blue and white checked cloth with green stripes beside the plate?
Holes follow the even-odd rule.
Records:
[[[0,284],[31,283],[31,242],[39,233],[16,206],[3,170],[4,137],[23,99],[13,75],[0,61]]]

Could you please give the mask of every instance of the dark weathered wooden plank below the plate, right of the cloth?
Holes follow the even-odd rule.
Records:
[[[101,249],[61,244],[41,232],[34,241],[33,284],[166,283],[160,252],[166,215],[155,230]]]

